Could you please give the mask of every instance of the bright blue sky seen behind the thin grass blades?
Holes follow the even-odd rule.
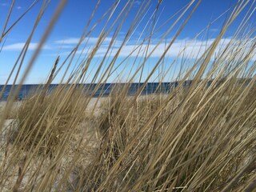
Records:
[[[34,2],[34,0],[16,0],[14,3],[14,10],[10,15],[10,20],[7,24],[7,29],[30,7],[30,5]],[[54,14],[56,8],[58,7],[58,0],[52,0],[49,6],[46,9],[46,12],[42,15],[42,19],[38,23],[37,28],[34,31],[34,35],[31,39],[30,46],[28,52],[26,54],[26,58],[24,60],[24,65],[22,66],[21,72],[26,69],[27,63],[30,61],[31,56],[34,54],[34,50],[38,46],[38,42],[42,38],[42,34],[46,30],[52,15]],[[70,53],[70,50],[76,46],[78,43],[83,30],[86,27],[88,20],[90,19],[90,15],[92,14],[94,7],[96,6],[98,0],[69,0],[62,10],[62,14],[58,18],[58,21],[54,25],[54,29],[51,31],[50,36],[47,38],[45,45],[43,46],[41,53],[39,54],[36,62],[34,62],[34,66],[30,71],[30,74],[26,78],[26,84],[35,84],[35,83],[43,83],[46,80],[47,75],[50,72],[54,64],[54,60],[58,55],[60,55],[60,63],[63,62],[66,56]],[[90,22],[90,26],[87,32],[94,26],[95,23],[102,17],[102,14],[106,12],[114,4],[114,0],[102,0],[98,6],[98,10],[96,10],[94,14],[94,18]],[[125,0],[121,0],[118,3],[116,10],[112,18],[110,18],[109,24],[106,26],[108,29],[111,26],[111,23],[114,22],[114,18],[118,17],[118,13],[122,10],[122,8],[126,5]],[[161,6],[158,9],[158,17],[156,19],[156,28],[162,26],[162,24],[174,15],[178,10],[181,10],[182,7],[186,6],[190,1],[189,0],[162,0]],[[197,2],[197,1],[196,1]],[[246,8],[249,8],[252,5],[251,1]],[[12,1],[11,0],[0,0],[0,31],[5,25],[6,18],[8,12],[10,10]],[[2,40],[0,46],[2,47],[2,51],[0,53],[0,84],[4,84],[14,63],[16,62],[18,55],[20,54],[22,47],[25,45],[27,38],[30,35],[31,30],[33,29],[34,22],[38,16],[38,12],[42,6],[43,0],[38,0],[38,2],[34,5],[34,7],[14,26],[10,33]],[[202,0],[198,9],[194,12],[189,22],[187,22],[182,33],[178,35],[178,38],[174,42],[170,51],[168,51],[167,56],[170,59],[174,59],[178,56],[179,51],[183,46],[185,46],[188,42],[190,42],[201,30],[205,29],[210,22],[213,22],[215,18],[218,18],[223,13],[229,14],[229,8],[234,6],[236,1],[234,0]],[[125,38],[127,31],[130,29],[130,26],[134,22],[134,17],[138,13],[140,6],[142,5],[142,0],[134,0],[134,4],[130,9],[130,13],[127,15],[125,22],[123,22],[120,33],[118,34],[116,44],[110,56],[114,56],[114,54],[118,51],[118,46],[121,45],[122,40]],[[122,51],[119,54],[117,62],[122,62],[123,58],[126,58],[128,54],[132,50],[134,50],[134,46],[138,44],[138,42],[142,41],[143,34],[146,34],[146,30],[144,27],[150,21],[150,16],[154,12],[155,8],[158,5],[158,0],[152,0],[150,2],[150,6],[146,9],[146,12],[143,14],[143,18],[141,22],[139,22],[138,26],[136,26],[136,30],[130,36],[129,41],[123,47]],[[191,9],[190,9],[191,10]],[[187,49],[187,58],[194,59],[195,55],[191,54],[193,50],[197,50],[206,43],[210,43],[214,41],[214,38],[219,34],[223,22],[225,21],[226,14],[223,14],[221,18],[219,18],[216,22],[214,22],[208,30],[204,31],[202,35],[200,35],[196,41],[194,41]],[[234,31],[239,26],[239,23],[242,21],[243,16],[246,14],[246,10],[242,11],[242,13],[238,16],[238,18],[234,21],[234,23],[230,26],[230,29],[224,35],[222,42],[228,42],[230,37],[234,34]],[[177,32],[178,27],[181,26],[182,22],[185,21],[188,13],[181,18],[181,20],[174,26],[170,33],[166,36],[165,41],[162,42],[158,49],[154,51],[149,60],[149,65],[147,67],[147,71],[150,71],[154,63],[158,61],[159,57],[161,57],[163,50],[165,49],[165,42],[170,42],[170,40],[174,37],[174,34]],[[162,37],[163,34],[170,28],[170,26],[174,23],[175,19],[178,16],[176,15],[170,22],[166,23],[165,26],[162,26],[153,36],[150,43],[150,50],[154,49],[154,46]],[[255,26],[254,17],[250,19],[250,23],[252,26]],[[98,41],[98,35],[102,31],[102,28],[106,24],[106,18],[103,18],[101,22],[98,23],[98,26],[95,27],[94,31],[90,34],[90,38],[86,45],[85,50],[90,50],[91,47],[95,45]],[[97,54],[92,61],[91,70],[94,71],[94,66],[97,66],[98,59],[101,59],[104,54],[106,54],[107,46],[110,44],[111,37],[114,34],[114,30],[110,30],[110,33],[107,35],[105,41],[102,43],[101,49],[98,50]],[[145,48],[146,46],[144,46]],[[78,49],[78,54],[82,53],[82,47]],[[78,54],[76,58],[78,58]],[[135,51],[134,55],[138,54]],[[83,52],[83,55],[86,55],[86,51]],[[134,56],[131,55],[131,58]],[[140,57],[143,57],[142,54],[138,54]],[[74,59],[74,64],[75,65]],[[130,60],[131,61],[131,60]],[[127,65],[131,65],[128,63]],[[63,68],[64,69],[64,68]],[[71,69],[71,68],[70,68]],[[17,71],[17,68],[15,69]],[[122,71],[120,69],[120,71]],[[119,72],[120,72],[119,71]],[[60,82],[62,75],[65,70],[62,70],[57,78],[54,79],[54,83]],[[118,73],[118,71],[117,71]],[[125,74],[128,71],[124,72]],[[21,75],[22,76],[22,73]],[[10,79],[10,84],[14,81],[14,76]],[[90,82],[90,78],[87,80]],[[114,77],[110,80],[114,81]]]

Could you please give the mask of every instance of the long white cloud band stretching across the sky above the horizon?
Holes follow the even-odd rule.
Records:
[[[43,50],[63,50],[62,54],[69,54],[68,50],[73,50],[73,48],[77,45],[80,38],[66,38],[57,40],[51,43],[48,43],[47,45],[43,46]],[[190,39],[179,39],[175,41],[172,46],[170,47],[170,50],[166,52],[166,57],[170,58],[198,58],[202,56],[202,54],[206,51],[206,49],[214,42],[214,38],[207,39],[207,40],[195,40],[191,41]],[[228,45],[230,42],[230,38],[222,38],[219,45],[217,46],[216,50],[214,51],[213,55],[218,55],[218,53],[222,52],[222,50]],[[85,43],[87,42],[87,46],[84,50],[82,50],[82,47],[85,46]],[[107,53],[108,46],[110,44],[111,38],[106,38],[104,42],[102,42],[102,45],[98,47],[98,50],[96,54],[94,55],[95,58],[104,57]],[[90,53],[90,51],[93,49],[93,47],[98,42],[98,38],[86,38],[84,42],[82,42],[81,49],[79,49],[76,53],[77,54],[86,54]],[[118,54],[119,58],[134,58],[134,57],[145,57],[145,50],[148,49],[148,54],[150,54],[151,51],[155,49],[155,46],[157,46],[158,41],[154,41],[150,44],[150,46],[147,46],[146,44],[142,45],[141,47],[138,47],[139,45],[135,42],[128,42],[126,45],[122,47],[122,50]],[[167,44],[170,42],[170,39],[167,40]],[[239,48],[243,49],[243,52],[250,51],[250,42],[248,41],[246,45]],[[122,40],[118,39],[116,40],[116,43],[114,46],[111,47],[110,51],[108,52],[107,56],[114,57],[118,53],[119,46],[121,45]],[[239,43],[239,40],[234,40],[234,43]],[[152,52],[150,55],[150,58],[160,58],[162,57],[162,54],[164,54],[166,50],[166,43],[162,42],[160,43],[157,48]],[[10,45],[3,46],[3,51],[20,51],[25,46],[25,42],[18,42]],[[28,50],[35,50],[38,47],[38,43],[31,42]],[[233,45],[234,48],[237,48]],[[255,53],[252,59],[256,59]]]

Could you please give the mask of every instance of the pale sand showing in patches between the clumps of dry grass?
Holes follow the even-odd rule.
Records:
[[[140,98],[147,98],[150,96],[141,96]],[[88,106],[86,107],[86,112],[90,115],[88,115],[88,117],[90,117],[90,119],[86,119],[86,121],[79,123],[79,127],[78,127],[78,132],[76,134],[74,134],[74,138],[81,138],[81,135],[83,135],[83,143],[82,143],[82,147],[83,149],[86,150],[82,150],[81,151],[81,155],[82,157],[86,157],[86,158],[82,158],[82,165],[83,166],[88,166],[90,165],[91,162],[91,153],[92,151],[96,151],[100,145],[100,138],[99,134],[98,134],[98,130],[96,130],[96,126],[94,125],[94,120],[96,119],[95,117],[97,115],[101,114],[101,105],[102,102],[106,102],[108,99],[110,98],[91,98],[90,102],[88,103]],[[17,101],[14,102],[14,105],[12,107],[12,111],[18,110],[18,107],[21,106],[22,101]],[[2,110],[4,110],[4,107],[6,106],[6,102],[0,102],[0,113],[2,112]],[[86,128],[86,129],[85,129]],[[6,141],[9,139],[10,137],[10,130],[14,130],[17,129],[17,121],[15,118],[8,116],[8,118],[6,119],[4,126],[2,127],[2,130],[0,132],[0,167],[2,166],[2,163],[5,161],[6,159],[6,149],[9,148],[10,152],[12,152],[14,150],[14,146],[12,146],[11,143],[9,143],[8,145],[6,145]],[[76,140],[76,139],[75,139]],[[87,142],[89,141],[89,142]],[[74,143],[77,143],[74,141]],[[70,146],[72,147],[72,146]],[[11,157],[11,156],[10,156]],[[22,162],[22,155],[20,155],[21,159],[18,159],[18,163]],[[62,173],[65,172],[65,165],[68,165],[71,161],[72,157],[72,153],[71,154],[67,154],[66,157],[64,157],[62,159],[62,167],[60,167],[60,175]],[[8,161],[8,160],[7,160]],[[38,164],[41,162],[40,158],[35,158],[33,159],[32,162],[30,162],[30,170],[35,170],[36,167],[38,166]],[[12,168],[12,170],[9,170],[8,173],[11,175],[9,177],[7,177],[6,183],[2,188],[2,191],[10,191],[12,190],[12,187],[14,186],[14,183],[16,182],[17,178],[18,178],[18,163],[17,166],[14,166]],[[47,160],[46,162],[44,162],[45,166],[48,167],[50,163],[50,160]],[[74,174],[73,172],[70,174],[70,183],[73,183],[75,181],[75,178],[77,177],[76,174]],[[60,177],[61,178],[61,177]],[[59,179],[60,179],[59,178]],[[22,188],[24,186],[26,186],[26,182],[28,182],[29,180],[29,174],[25,174],[24,178],[22,179],[22,184],[20,187],[20,190],[22,190]],[[59,179],[57,178],[54,181],[54,187],[58,186],[58,182]],[[54,187],[52,190],[54,190]]]

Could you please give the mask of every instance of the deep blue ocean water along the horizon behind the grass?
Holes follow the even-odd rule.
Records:
[[[183,86],[190,86],[191,81],[187,81],[184,83]],[[130,88],[128,90],[128,95],[134,95],[137,93],[137,91],[142,87],[143,83],[131,83]],[[52,90],[54,90],[58,84],[52,84],[49,87],[48,94]],[[78,85],[82,86],[84,88],[84,91],[86,94],[91,95],[93,94],[93,97],[99,97],[99,96],[108,96],[111,93],[111,90],[113,90],[114,86],[123,87],[126,86],[125,83],[106,83],[105,85],[100,85],[98,90],[94,92],[95,87],[97,84],[82,84]],[[176,86],[178,86],[178,82],[148,82],[146,83],[146,86],[142,90],[142,94],[154,94],[154,93],[169,93],[172,89],[174,89]],[[5,90],[3,91],[1,100],[6,100],[10,95],[11,85],[7,85]],[[14,86],[14,89],[17,86]],[[23,85],[22,89],[19,91],[18,100],[22,100],[23,98],[27,98],[30,96],[30,94],[33,94],[36,90],[40,89],[42,85]],[[4,86],[0,86],[0,92]]]

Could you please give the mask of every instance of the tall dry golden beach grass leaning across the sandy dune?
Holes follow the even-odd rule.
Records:
[[[45,84],[19,102],[15,110],[14,98],[66,1],[60,1],[38,49],[25,66],[25,73],[20,74],[18,70],[7,78],[6,85],[14,79],[11,83],[20,86],[10,90],[10,97],[1,108],[0,190],[253,191],[256,187],[256,65],[253,61],[256,44],[254,28],[250,29],[247,23],[254,13],[252,7],[246,6],[249,1],[238,1],[232,7],[223,18],[218,36],[209,39],[209,46],[201,45],[203,51],[196,58],[182,56],[181,50],[166,68],[163,67],[166,53],[197,11],[200,1],[191,1],[174,13],[174,21],[164,22],[166,33],[152,46],[150,39],[161,28],[156,22],[162,2],[158,1],[150,24],[145,26],[148,33],[125,58],[120,56],[122,62],[117,59],[122,47],[136,32],[143,15],[148,14],[150,1],[143,1],[139,6],[121,42],[118,34],[134,1],[127,1],[117,15],[118,1],[114,2],[102,14],[102,19],[91,26],[99,2],[74,50],[63,60],[55,60]],[[42,2],[35,28],[49,5]],[[12,11],[10,9],[10,13]],[[246,15],[241,25],[230,41],[223,43],[229,26],[242,11]],[[102,21],[105,25],[94,47],[79,54],[78,48],[86,47],[84,40],[90,38],[95,26]],[[14,22],[10,29],[3,30],[0,42],[15,25]],[[146,72],[144,68],[152,54],[173,30],[174,36],[166,40],[162,56]],[[97,69],[90,70],[102,42],[113,31],[105,54],[95,66]],[[198,30],[198,35],[202,31]],[[21,58],[26,56],[33,33],[34,30],[14,69],[23,67]],[[118,50],[110,54],[117,42]],[[175,68],[178,73],[174,72]],[[171,87],[169,93],[156,91],[142,95],[147,82],[156,78],[161,83],[171,74],[178,86]],[[48,94],[50,84],[58,75],[62,81]],[[125,83],[116,84],[106,97],[101,93],[94,98],[113,76],[115,82],[125,79]],[[137,79],[142,87],[129,95],[131,83]],[[190,86],[183,86],[188,80],[192,80]],[[88,81],[90,94],[81,86]],[[2,94],[3,91],[1,97]]]

